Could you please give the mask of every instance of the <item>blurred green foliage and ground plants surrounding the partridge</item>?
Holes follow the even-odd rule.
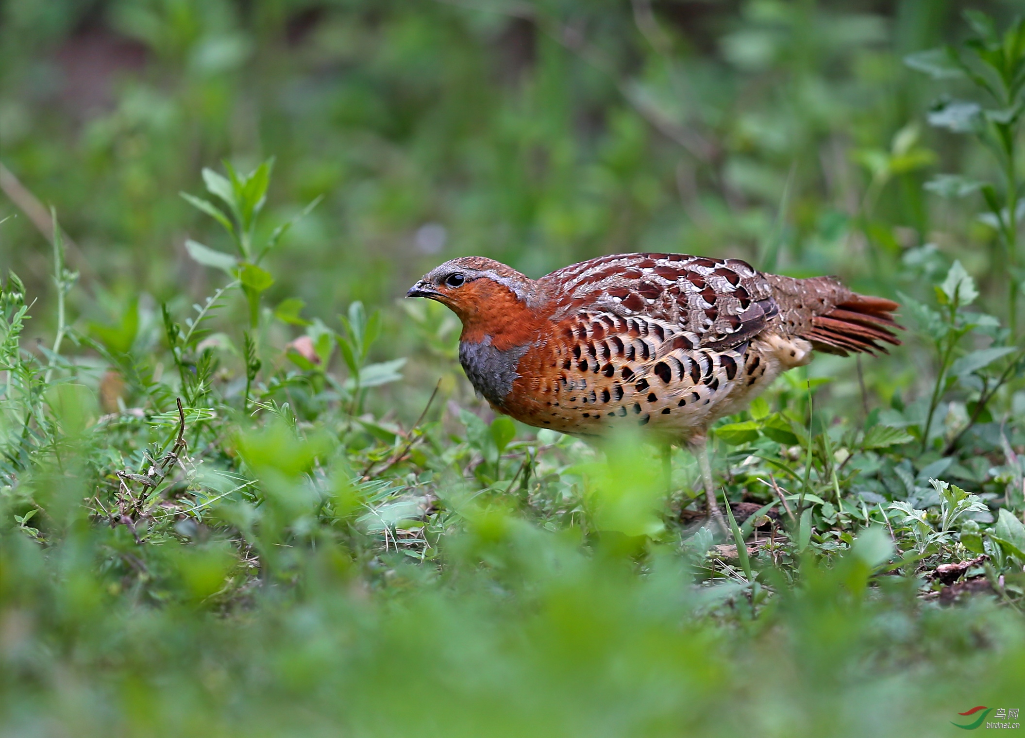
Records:
[[[6,0],[0,734],[1022,707],[1015,5]],[[730,540],[686,453],[495,417],[396,302],[642,249],[903,304],[714,428]]]

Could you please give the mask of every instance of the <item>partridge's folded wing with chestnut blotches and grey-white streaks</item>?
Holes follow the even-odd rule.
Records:
[[[580,311],[655,318],[679,326],[695,348],[738,345],[779,312],[772,286],[740,259],[616,254],[571,264],[538,282],[556,295],[552,320]]]

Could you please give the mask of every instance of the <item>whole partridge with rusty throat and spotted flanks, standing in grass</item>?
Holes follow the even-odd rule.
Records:
[[[740,259],[627,253],[532,280],[481,256],[446,261],[407,297],[462,321],[459,361],[500,413],[581,437],[643,426],[698,456],[720,526],[706,438],[812,351],[886,352],[896,302],[834,278],[794,279]]]

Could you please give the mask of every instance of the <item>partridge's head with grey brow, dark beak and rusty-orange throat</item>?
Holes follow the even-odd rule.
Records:
[[[494,335],[538,306],[536,283],[500,261],[461,256],[436,266],[407,297],[438,300],[462,321],[463,335]]]

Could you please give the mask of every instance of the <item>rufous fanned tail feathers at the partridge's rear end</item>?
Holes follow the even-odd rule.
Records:
[[[812,318],[812,330],[805,334],[819,351],[847,356],[849,351],[877,351],[889,354],[876,341],[900,345],[892,328],[903,330],[891,315],[900,305],[884,297],[868,297],[852,292],[835,308]]]

